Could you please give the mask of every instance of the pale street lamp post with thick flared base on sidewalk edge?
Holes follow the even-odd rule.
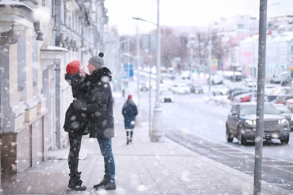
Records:
[[[157,1],[157,87],[156,103],[154,107],[152,132],[150,141],[165,141],[165,132],[162,128],[162,108],[160,104],[160,82],[161,82],[161,29],[160,29],[160,0]]]

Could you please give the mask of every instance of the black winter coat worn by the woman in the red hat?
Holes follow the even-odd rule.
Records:
[[[81,99],[86,91],[86,80],[89,75],[86,74],[85,78],[82,78],[79,74],[67,75],[65,74],[65,80],[71,85],[72,95],[74,99]],[[89,118],[85,112],[77,111],[73,108],[71,103],[65,114],[64,131],[71,134],[87,135],[89,133]]]

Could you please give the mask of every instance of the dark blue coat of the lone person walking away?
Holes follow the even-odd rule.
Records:
[[[134,129],[135,117],[137,116],[137,107],[135,103],[128,99],[122,108],[124,116],[125,129]]]

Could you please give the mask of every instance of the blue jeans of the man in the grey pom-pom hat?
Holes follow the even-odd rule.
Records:
[[[109,139],[99,139],[99,146],[102,156],[104,156],[105,163],[105,176],[104,178],[111,183],[115,183],[115,161],[112,152],[112,140]]]

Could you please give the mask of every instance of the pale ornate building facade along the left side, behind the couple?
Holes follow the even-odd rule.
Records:
[[[104,0],[0,1],[1,172],[16,174],[68,145],[72,101],[64,79],[74,59],[103,51]]]

